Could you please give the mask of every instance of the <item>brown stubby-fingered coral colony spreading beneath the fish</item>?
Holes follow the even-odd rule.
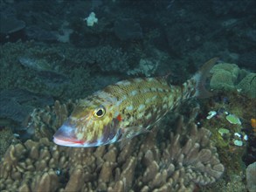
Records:
[[[210,131],[198,128],[191,118],[185,123],[183,116],[177,118],[175,131],[154,127],[122,149],[116,144],[56,146],[49,141],[51,131],[45,134],[41,129],[61,124],[73,105],[56,102],[44,113],[33,114],[32,119],[38,118],[32,120],[37,136],[6,151],[1,191],[193,191],[196,184],[211,184],[224,172]],[[41,124],[35,124],[38,120]],[[45,137],[39,139],[41,134]]]

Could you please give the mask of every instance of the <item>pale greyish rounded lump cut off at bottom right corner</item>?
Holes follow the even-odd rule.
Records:
[[[247,189],[250,192],[256,191],[256,162],[253,162],[246,168],[246,182],[247,182]]]

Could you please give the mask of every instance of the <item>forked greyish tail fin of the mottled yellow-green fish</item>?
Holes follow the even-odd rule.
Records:
[[[218,62],[218,58],[211,58],[209,61],[207,61],[200,70],[193,76],[192,79],[196,82],[196,93],[193,95],[197,98],[207,98],[211,97],[211,93],[208,92],[205,89],[205,81],[206,78],[212,68],[213,65],[215,65]]]

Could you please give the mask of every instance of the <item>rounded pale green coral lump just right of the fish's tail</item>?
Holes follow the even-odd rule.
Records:
[[[234,64],[221,63],[211,69],[212,78],[210,86],[218,90],[234,90],[239,76],[239,67]]]

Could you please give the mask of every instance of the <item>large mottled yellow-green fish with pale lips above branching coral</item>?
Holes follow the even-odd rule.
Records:
[[[218,58],[211,58],[180,86],[166,77],[121,80],[80,99],[53,135],[66,147],[99,147],[121,141],[124,146],[139,134],[149,133],[159,120],[184,99],[210,97],[205,80]]]

